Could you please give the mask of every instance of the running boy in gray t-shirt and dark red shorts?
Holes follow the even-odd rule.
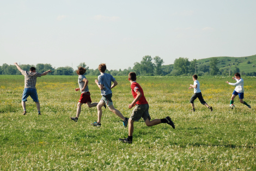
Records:
[[[92,100],[90,99],[90,92],[88,88],[88,80],[86,79],[86,76],[84,76],[84,73],[86,72],[86,69],[82,66],[79,66],[78,70],[76,71],[76,74],[78,75],[78,85],[79,88],[76,88],[75,90],[81,91],[81,96],[79,99],[79,102],[77,104],[77,111],[76,111],[76,117],[72,118],[69,117],[71,120],[74,120],[77,122],[78,117],[81,113],[81,106],[83,103],[87,103],[88,107],[95,107],[98,103],[92,103]]]

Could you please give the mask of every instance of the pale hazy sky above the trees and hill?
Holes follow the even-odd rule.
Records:
[[[124,70],[148,55],[163,65],[252,56],[255,7],[253,0],[0,0],[0,65]]]

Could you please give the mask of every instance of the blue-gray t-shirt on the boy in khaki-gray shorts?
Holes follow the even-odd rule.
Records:
[[[98,76],[98,84],[103,85],[103,90],[101,90],[101,95],[111,94],[111,82],[114,82],[115,78],[107,73],[103,73]]]

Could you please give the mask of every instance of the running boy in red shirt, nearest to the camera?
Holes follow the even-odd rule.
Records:
[[[143,118],[145,121],[145,124],[147,126],[154,126],[158,125],[161,123],[167,123],[170,126],[175,129],[175,125],[173,121],[170,119],[170,117],[166,117],[163,119],[154,119],[150,121],[150,115],[149,115],[149,105],[147,100],[145,99],[143,90],[141,86],[136,82],[136,74],[135,72],[130,72],[129,73],[129,78],[128,80],[131,83],[131,89],[132,89],[132,96],[134,100],[132,103],[129,105],[129,108],[132,108],[135,106],[135,108],[132,111],[131,117],[128,120],[128,125],[129,125],[129,135],[125,139],[119,138],[119,141],[124,142],[124,143],[132,143],[132,133],[133,133],[133,123],[134,121],[138,121],[139,119]]]

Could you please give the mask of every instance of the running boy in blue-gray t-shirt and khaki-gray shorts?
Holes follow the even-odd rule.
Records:
[[[97,114],[98,114],[98,119],[96,122],[92,123],[91,125],[93,126],[101,126],[101,116],[102,116],[102,106],[107,105],[109,110],[113,112],[114,114],[118,115],[123,120],[124,127],[127,126],[128,123],[128,118],[125,118],[117,109],[114,108],[113,102],[112,102],[112,91],[111,89],[117,86],[117,81],[115,81],[115,78],[110,75],[105,73],[107,66],[106,64],[100,64],[98,67],[100,74],[98,76],[98,80],[95,80],[95,83],[101,90],[101,100],[97,104]],[[111,82],[113,84],[111,85]]]

